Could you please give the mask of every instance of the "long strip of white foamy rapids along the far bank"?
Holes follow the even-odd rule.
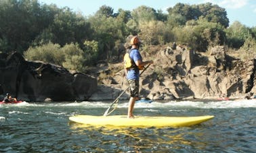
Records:
[[[108,108],[112,102],[42,102],[42,103],[29,103],[21,102],[18,104],[10,104],[9,106],[64,106],[64,107],[82,107],[82,108]],[[112,105],[114,107],[115,104]],[[117,103],[118,108],[127,108],[128,102],[121,101]],[[182,101],[153,101],[151,103],[147,102],[137,102],[135,103],[135,108],[145,108],[145,109],[156,109],[156,108],[173,108],[175,109],[228,109],[228,108],[256,108],[256,99],[253,100],[221,100],[221,101],[211,101],[207,102],[202,101],[191,101],[191,100],[182,100]],[[17,113],[17,112],[11,112]]]

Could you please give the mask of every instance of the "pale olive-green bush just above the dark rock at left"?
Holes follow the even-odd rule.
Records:
[[[85,64],[91,61],[92,55],[81,50],[79,44],[71,43],[60,47],[59,44],[49,42],[39,47],[30,47],[24,53],[24,57],[31,61],[44,61],[83,72],[87,68]]]

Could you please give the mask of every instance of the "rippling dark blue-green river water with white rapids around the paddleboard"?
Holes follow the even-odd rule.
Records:
[[[111,115],[126,115],[119,102]],[[1,104],[0,152],[256,152],[256,100],[154,101],[135,115],[214,119],[192,127],[83,127],[72,115],[103,115],[110,102]]]

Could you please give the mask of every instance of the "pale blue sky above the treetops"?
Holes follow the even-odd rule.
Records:
[[[255,0],[39,0],[41,4],[54,3],[58,7],[69,7],[72,11],[81,12],[83,16],[93,16],[102,5],[107,5],[114,9],[132,11],[133,9],[146,5],[155,10],[161,9],[167,13],[167,8],[173,7],[176,3],[186,3],[189,5],[200,3],[213,3],[226,9],[230,25],[238,21],[248,27],[256,26],[256,1]]]

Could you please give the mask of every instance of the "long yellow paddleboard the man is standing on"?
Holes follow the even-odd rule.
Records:
[[[134,119],[127,119],[126,115],[112,116],[91,116],[76,115],[69,117],[70,121],[82,123],[84,125],[95,127],[188,127],[196,125],[209,119],[213,119],[213,115],[198,117],[148,117],[138,116]]]

